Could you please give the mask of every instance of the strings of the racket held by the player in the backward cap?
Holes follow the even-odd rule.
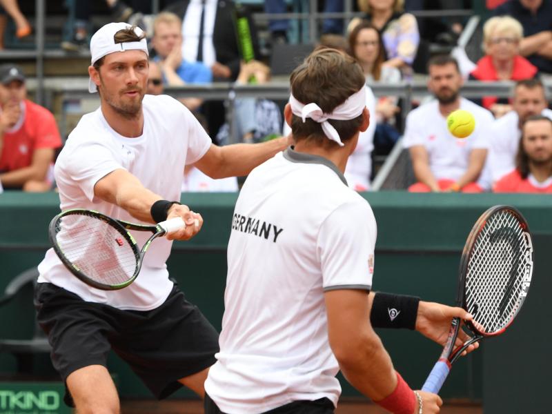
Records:
[[[125,236],[106,221],[67,215],[59,221],[56,240],[66,259],[96,282],[122,284],[135,273],[135,251]]]

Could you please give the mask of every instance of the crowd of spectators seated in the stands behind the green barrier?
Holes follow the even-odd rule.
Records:
[[[88,46],[90,5],[68,2],[74,14],[70,39],[62,47],[80,50]],[[5,10],[14,19],[17,37],[28,36],[32,28],[17,8],[17,1],[0,0],[0,48],[6,27]],[[146,0],[106,0],[112,19],[139,21],[148,33],[152,59],[148,93],[159,95],[164,87],[186,84],[209,85],[224,81],[237,84],[270,82],[269,57],[259,52],[259,36],[248,10],[239,13],[248,21],[250,48],[254,59],[244,61],[243,37],[235,24],[233,1],[161,1],[164,10],[150,19],[138,19],[151,12]],[[540,79],[552,74],[552,0],[487,1],[488,19],[482,23],[482,57],[472,63],[469,79],[482,82],[515,81],[510,97],[492,93],[465,99],[464,78],[459,63],[450,55],[436,55],[425,61],[430,101],[414,102],[414,108],[400,117],[404,102],[398,97],[375,97],[371,86],[378,83],[411,82],[428,26],[439,26],[416,17],[416,10],[471,8],[469,1],[358,0],[361,17],[347,27],[342,19],[324,19],[320,43],[346,50],[357,59],[366,76],[366,105],[371,127],[362,133],[346,171],[349,184],[369,190],[374,175],[374,155],[387,155],[397,141],[408,148],[417,182],[409,190],[479,193],[484,191],[552,192],[552,110],[546,87]],[[492,10],[491,10],[492,9]],[[264,2],[266,12],[286,12],[284,1]],[[321,2],[321,10],[343,11],[343,2]],[[440,19],[440,36],[433,41],[453,39],[466,21]],[[270,42],[288,43],[288,19],[268,23]],[[453,42],[454,43],[454,42]],[[464,62],[462,62],[464,63]],[[50,190],[48,171],[62,140],[54,117],[26,99],[25,77],[12,64],[0,68],[0,185],[4,190]],[[233,141],[259,142],[285,135],[282,117],[284,101],[262,98],[235,99],[228,121],[224,101],[199,97],[181,98],[195,113],[215,144]],[[457,139],[446,128],[446,116],[456,109],[469,110],[476,120],[475,131]],[[184,177],[183,190],[236,190],[208,184],[193,166]],[[199,183],[193,185],[193,183]]]

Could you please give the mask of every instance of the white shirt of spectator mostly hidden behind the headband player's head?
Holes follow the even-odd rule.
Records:
[[[357,190],[365,191],[370,188],[370,175],[372,173],[372,151],[374,150],[374,134],[377,125],[375,112],[375,96],[372,88],[366,85],[366,108],[370,112],[370,125],[364,132],[360,132],[357,148],[351,154],[345,168],[345,178],[348,186]],[[289,135],[291,128],[284,121],[284,135]]]

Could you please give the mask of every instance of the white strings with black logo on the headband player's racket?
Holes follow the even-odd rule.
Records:
[[[517,218],[504,210],[491,216],[477,235],[466,275],[466,304],[482,333],[508,326],[519,311],[528,284],[531,257]]]

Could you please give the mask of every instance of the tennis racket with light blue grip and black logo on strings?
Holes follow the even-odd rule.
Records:
[[[533,244],[521,213],[509,206],[486,210],[466,240],[458,275],[457,306],[473,315],[465,324],[471,339],[453,348],[461,325],[459,318],[453,319],[422,391],[438,393],[451,365],[469,345],[506,330],[522,307],[532,274]]]

